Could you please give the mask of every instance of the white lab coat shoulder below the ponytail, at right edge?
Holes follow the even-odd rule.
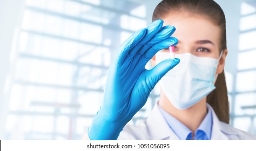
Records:
[[[220,121],[220,131],[223,132],[229,139],[232,140],[256,140],[256,135],[241,131],[227,123]]]

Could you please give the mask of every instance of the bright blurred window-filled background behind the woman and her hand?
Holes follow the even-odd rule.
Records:
[[[80,140],[116,48],[160,0],[0,0],[0,139]],[[216,0],[227,19],[230,124],[256,134],[256,1]],[[159,86],[131,124],[145,119]]]

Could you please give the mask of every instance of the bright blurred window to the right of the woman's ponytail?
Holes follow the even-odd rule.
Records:
[[[256,134],[256,1],[241,4],[233,126]]]

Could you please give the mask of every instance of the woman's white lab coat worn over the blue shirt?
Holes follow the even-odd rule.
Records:
[[[256,140],[255,135],[219,121],[212,107],[207,104],[207,108],[212,112],[213,119],[211,140]],[[126,125],[118,140],[179,140],[179,138],[169,127],[156,105],[145,121],[137,126]]]

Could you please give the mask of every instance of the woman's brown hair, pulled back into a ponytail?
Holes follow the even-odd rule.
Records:
[[[219,50],[227,48],[225,15],[213,0],[163,0],[154,9],[152,21],[166,17],[171,11],[191,12],[208,17],[220,27]],[[229,105],[224,72],[218,75],[215,87],[215,90],[207,95],[207,102],[212,106],[220,121],[229,123]]]

